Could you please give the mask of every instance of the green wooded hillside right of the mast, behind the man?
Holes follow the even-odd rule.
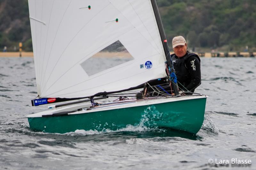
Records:
[[[169,42],[184,36],[189,47],[256,50],[256,1],[158,0]]]

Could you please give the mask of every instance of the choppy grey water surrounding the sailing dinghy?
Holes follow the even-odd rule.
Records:
[[[33,58],[1,57],[0,169],[255,169],[256,60],[201,59],[196,92],[209,98],[196,135],[143,125],[61,135],[29,129],[26,115],[45,110],[31,106]],[[232,159],[252,163],[231,164]]]

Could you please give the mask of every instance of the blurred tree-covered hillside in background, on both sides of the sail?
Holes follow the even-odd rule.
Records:
[[[182,35],[188,47],[256,49],[255,0],[157,0],[165,34]],[[32,51],[27,0],[0,0],[0,48]]]

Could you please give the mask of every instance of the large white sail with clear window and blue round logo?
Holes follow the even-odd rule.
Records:
[[[40,97],[85,97],[166,76],[149,0],[28,4]]]

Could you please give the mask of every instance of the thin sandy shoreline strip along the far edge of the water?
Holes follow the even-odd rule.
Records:
[[[170,52],[173,54],[173,52]],[[196,53],[196,52],[195,52]],[[200,57],[250,57],[256,56],[256,52],[249,53],[249,52],[214,52],[214,53],[196,53]],[[21,52],[21,57],[33,57],[33,52]],[[111,57],[108,53],[106,56]],[[20,57],[20,52],[0,52],[0,57]]]

